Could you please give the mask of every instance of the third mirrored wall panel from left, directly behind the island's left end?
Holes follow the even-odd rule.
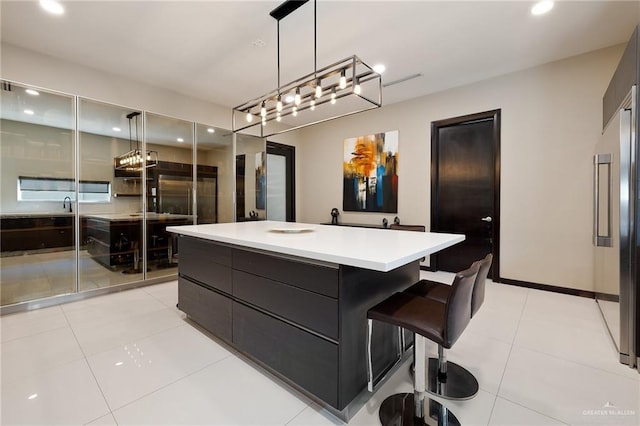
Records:
[[[178,245],[167,226],[194,220],[193,122],[145,114],[145,149],[158,153],[158,165],[147,169],[148,278],[178,272]]]

